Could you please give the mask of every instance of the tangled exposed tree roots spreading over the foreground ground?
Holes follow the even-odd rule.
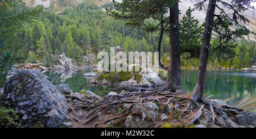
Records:
[[[122,87],[122,89],[124,88]],[[227,113],[227,109],[243,111],[240,108],[212,103],[205,98],[195,102],[191,99],[191,95],[168,91],[134,91],[123,95],[106,96],[105,98],[96,98],[92,95],[66,96],[66,98],[79,100],[79,102],[73,101],[69,107],[71,118],[77,121],[81,127],[105,127],[108,125],[125,127],[126,117],[134,114],[141,115],[143,119],[147,117],[149,123],[145,127],[159,127],[163,124],[162,120],[133,111],[136,104],[148,102],[154,102],[158,105],[159,116],[165,113],[169,117],[168,123],[175,121],[175,123],[179,122],[187,126],[200,121],[203,110],[210,112],[211,123],[218,121],[217,117]],[[170,111],[167,112],[168,107],[172,107],[171,113]],[[77,114],[79,111],[83,111],[83,115]]]

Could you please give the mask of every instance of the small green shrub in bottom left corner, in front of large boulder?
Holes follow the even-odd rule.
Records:
[[[0,128],[18,127],[18,119],[19,116],[14,109],[0,106]]]

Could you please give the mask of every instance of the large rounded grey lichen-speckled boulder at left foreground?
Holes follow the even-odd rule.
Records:
[[[70,120],[65,97],[39,71],[20,70],[7,79],[2,99],[18,111],[24,127],[39,121],[44,127],[59,127]]]

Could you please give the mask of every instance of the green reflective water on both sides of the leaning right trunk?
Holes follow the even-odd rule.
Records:
[[[181,84],[185,92],[192,92],[197,71],[181,71]],[[256,73],[241,71],[207,71],[205,97],[221,99],[232,106],[256,109]]]

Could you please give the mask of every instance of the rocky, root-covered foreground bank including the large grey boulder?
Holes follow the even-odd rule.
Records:
[[[180,116],[185,106],[182,103],[185,103],[187,96],[172,92],[158,92],[158,94],[145,94],[141,98],[143,94],[123,90],[120,94],[109,92],[104,98],[100,98],[90,91],[85,91],[83,94],[73,93],[67,84],[53,86],[48,81],[48,77],[39,71],[20,70],[7,80],[1,103],[18,111],[20,127],[34,127],[38,124],[43,127],[165,127],[168,124],[178,126],[177,124],[181,124],[180,117],[183,119],[193,117],[189,114]],[[163,103],[162,101],[170,95],[182,97],[184,100],[180,101],[179,105],[174,105],[174,102]],[[159,96],[158,99],[152,99],[155,96]],[[122,98],[130,98],[130,100],[122,103]],[[135,100],[136,98],[142,100]],[[155,100],[160,100],[160,102]],[[202,108],[203,106],[199,104],[201,109],[191,109],[194,114],[201,111],[198,119],[191,124],[179,126],[196,128],[256,126],[256,113],[228,106],[221,100],[210,101],[214,107],[225,109],[222,112],[214,111],[217,116],[214,121],[212,121],[212,113],[209,109],[206,106]],[[97,111],[97,109],[77,107],[82,103],[86,107],[102,103],[99,108],[108,110],[102,113],[101,109]],[[92,115],[93,111],[98,115]]]

